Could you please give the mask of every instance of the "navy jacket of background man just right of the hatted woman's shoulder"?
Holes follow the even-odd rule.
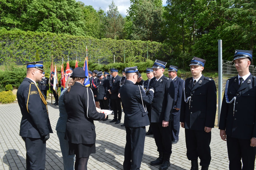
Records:
[[[109,81],[103,77],[101,80],[98,80],[98,93],[97,93],[97,99],[98,100],[104,100],[104,97],[109,97]]]

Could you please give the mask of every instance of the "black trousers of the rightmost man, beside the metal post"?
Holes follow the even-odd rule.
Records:
[[[250,143],[250,139],[238,139],[227,135],[230,170],[254,170],[256,147],[251,147]]]

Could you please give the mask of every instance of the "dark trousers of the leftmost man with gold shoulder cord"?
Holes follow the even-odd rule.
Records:
[[[26,169],[44,170],[46,141],[41,138],[22,137],[26,146]]]

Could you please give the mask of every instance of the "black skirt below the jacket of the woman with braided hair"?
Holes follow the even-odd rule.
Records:
[[[69,142],[69,155],[76,155],[77,158],[87,158],[91,153],[96,153],[94,144],[74,144]]]

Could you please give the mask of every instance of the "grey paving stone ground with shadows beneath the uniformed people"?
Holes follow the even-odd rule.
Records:
[[[46,170],[63,169],[63,160],[55,126],[59,117],[58,106],[48,103],[49,117],[53,129],[50,139],[46,142]],[[124,114],[123,114],[124,115]],[[112,120],[113,115],[109,116]],[[0,105],[0,169],[26,169],[25,143],[19,136],[21,113],[18,103]],[[108,121],[94,121],[96,126],[96,153],[91,154],[88,169],[111,170],[123,169],[125,148],[125,127],[123,117],[120,124]],[[146,130],[148,129],[148,126]],[[228,169],[226,142],[220,139],[218,128],[212,129],[211,141],[212,161],[210,170]],[[179,142],[172,147],[171,166],[168,169],[189,170],[191,165],[186,156],[185,131],[180,129]],[[141,170],[159,169],[151,166],[150,161],[158,157],[153,135],[146,136]],[[198,161],[199,162],[199,161]],[[200,167],[200,166],[199,166]],[[256,166],[255,166],[256,167]]]

